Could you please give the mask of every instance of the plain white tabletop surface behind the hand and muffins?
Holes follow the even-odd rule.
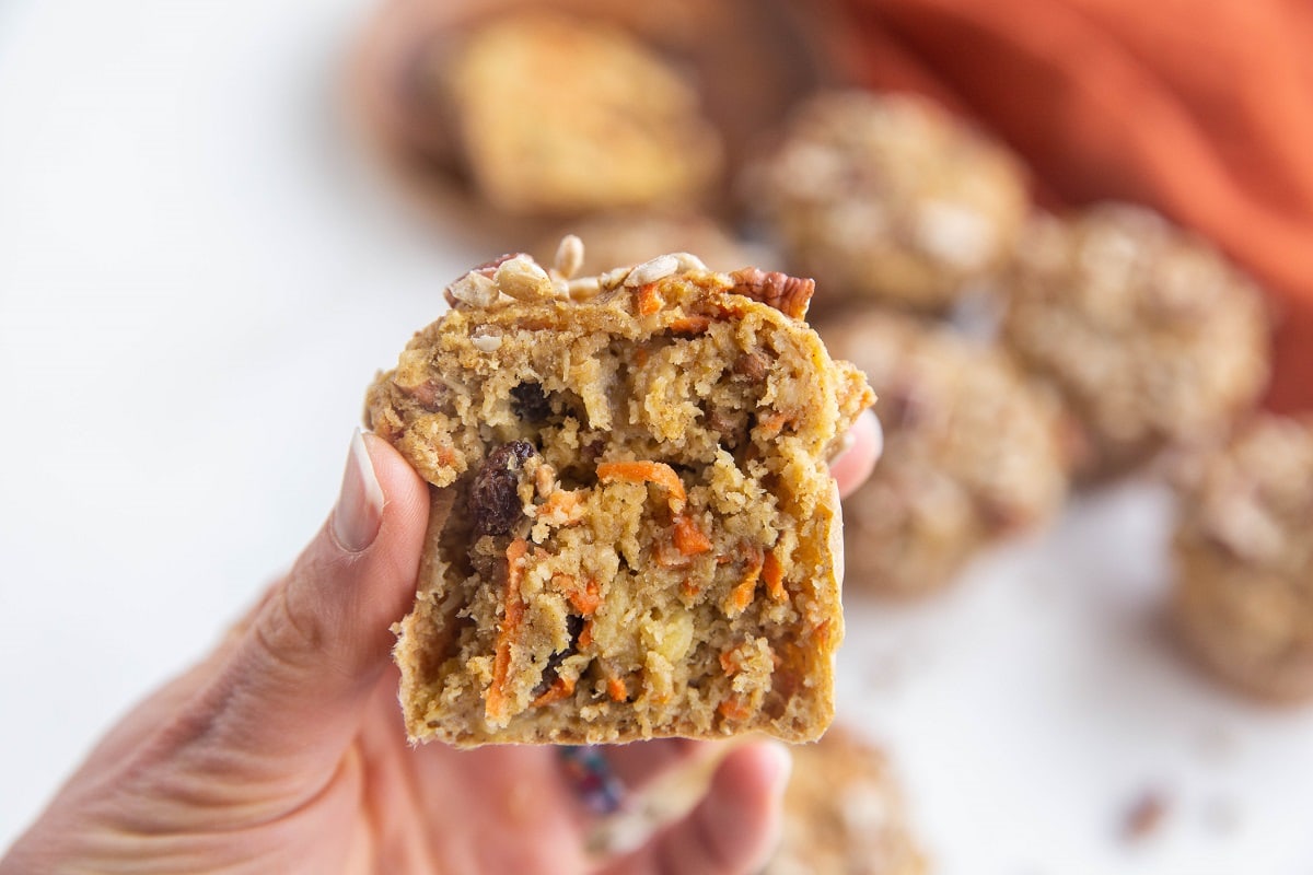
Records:
[[[365,382],[487,254],[345,129],[366,4],[0,4],[0,847],[310,537]],[[1179,665],[1166,521],[1130,487],[943,600],[851,600],[840,707],[937,871],[1313,871],[1313,716]]]

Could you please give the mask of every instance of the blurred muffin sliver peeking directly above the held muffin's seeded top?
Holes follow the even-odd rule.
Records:
[[[772,270],[779,261],[762,247],[739,243],[713,219],[676,213],[620,213],[579,219],[545,236],[530,252],[541,256],[541,264],[550,264],[566,234],[588,241],[579,269],[582,275],[642,264],[663,252],[691,252],[712,270],[738,270],[746,265]]]

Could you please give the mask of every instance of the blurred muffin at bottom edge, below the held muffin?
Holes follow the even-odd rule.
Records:
[[[815,744],[793,746],[783,833],[763,875],[919,875],[927,868],[884,754],[840,727]]]

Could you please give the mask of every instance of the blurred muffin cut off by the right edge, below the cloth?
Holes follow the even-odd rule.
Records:
[[[1180,488],[1171,610],[1217,677],[1313,698],[1313,416],[1263,416]]]

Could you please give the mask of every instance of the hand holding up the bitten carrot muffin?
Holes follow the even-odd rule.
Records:
[[[843,487],[878,454],[869,413],[836,459]],[[286,579],[200,665],[131,711],[0,861],[0,874],[748,872],[773,845],[789,758],[756,741],[704,800],[620,859],[555,748],[410,748],[389,627],[408,609],[425,484],[373,436],[352,442],[341,497]],[[607,749],[628,788],[712,743]]]

